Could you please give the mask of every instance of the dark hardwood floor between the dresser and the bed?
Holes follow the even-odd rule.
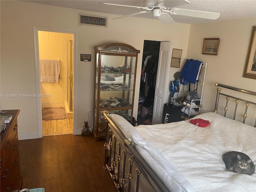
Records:
[[[116,192],[104,166],[104,140],[58,135],[20,140],[23,188],[45,192]]]

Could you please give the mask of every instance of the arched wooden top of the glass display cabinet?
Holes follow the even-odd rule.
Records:
[[[138,54],[140,50],[135,49],[133,46],[130,46],[125,43],[110,43],[101,46],[94,47],[95,50],[99,50],[105,53],[114,53],[114,54]]]

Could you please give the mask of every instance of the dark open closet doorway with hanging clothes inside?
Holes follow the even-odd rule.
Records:
[[[144,40],[137,124],[152,124],[160,41]]]

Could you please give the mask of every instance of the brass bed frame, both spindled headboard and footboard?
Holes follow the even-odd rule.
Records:
[[[215,101],[214,112],[218,113],[218,104],[220,95],[226,96],[226,106],[224,108],[224,116],[228,110],[228,102],[230,98],[235,100],[235,110],[233,119],[236,118],[236,110],[239,101],[245,103],[245,112],[243,114],[243,123],[245,123],[247,117],[247,110],[250,104],[256,106],[256,103],[236,98],[228,94],[221,93],[221,88],[227,88],[229,90],[235,90],[245,94],[250,94],[256,96],[256,92],[235,88],[232,86],[227,86],[224,84],[216,83],[217,95]],[[106,118],[106,138],[104,143],[105,148],[105,158],[104,158],[104,168],[108,170],[117,191],[139,191],[140,178],[143,176],[147,181],[148,185],[152,186],[154,191],[160,192],[170,192],[162,180],[155,174],[152,168],[146,163],[146,161],[140,156],[136,148],[133,146],[132,141],[128,140],[119,126],[108,117],[108,111],[103,110],[102,115]],[[256,127],[256,118],[254,122],[254,127]],[[135,165],[134,165],[135,164]],[[135,168],[134,168],[135,167]],[[126,172],[128,171],[128,172]],[[135,173],[135,175],[134,175]],[[142,175],[141,175],[142,174]],[[133,185],[133,189],[132,189]],[[135,187],[134,187],[135,185]]]

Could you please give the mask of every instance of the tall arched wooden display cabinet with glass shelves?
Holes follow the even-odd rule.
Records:
[[[132,123],[137,59],[140,50],[123,43],[94,47],[96,53],[94,125],[95,139],[105,138],[102,110],[119,114]]]

